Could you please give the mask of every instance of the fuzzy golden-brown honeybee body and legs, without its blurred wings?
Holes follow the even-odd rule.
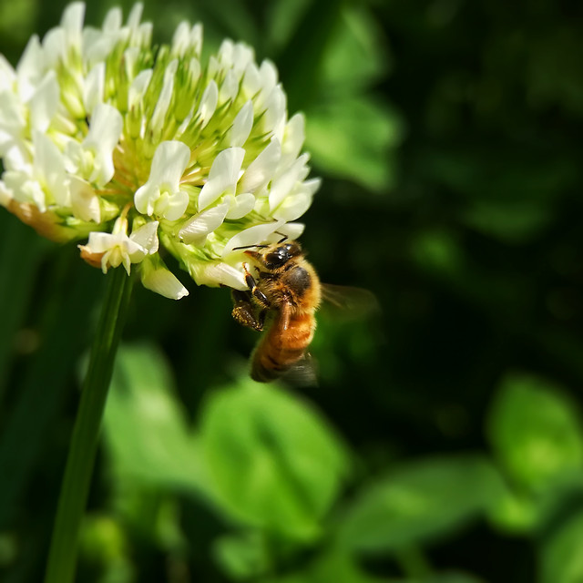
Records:
[[[251,356],[251,378],[268,383],[306,360],[322,300],[318,274],[296,241],[281,240],[245,251],[256,274],[243,263],[249,290],[232,291],[235,321],[265,331]]]

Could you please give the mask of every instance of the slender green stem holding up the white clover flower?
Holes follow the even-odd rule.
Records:
[[[75,577],[77,538],[87,504],[101,418],[131,287],[132,278],[121,267],[107,274],[105,301],[91,349],[56,508],[45,583],[72,583]]]

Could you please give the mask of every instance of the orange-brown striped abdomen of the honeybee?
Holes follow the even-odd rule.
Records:
[[[316,321],[312,313],[292,316],[287,326],[278,314],[253,354],[251,378],[272,381],[288,371],[305,353],[313,338]]]

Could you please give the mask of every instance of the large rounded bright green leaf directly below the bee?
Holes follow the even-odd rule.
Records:
[[[201,437],[214,492],[231,517],[288,537],[319,534],[347,459],[309,404],[244,378],[210,396]]]

